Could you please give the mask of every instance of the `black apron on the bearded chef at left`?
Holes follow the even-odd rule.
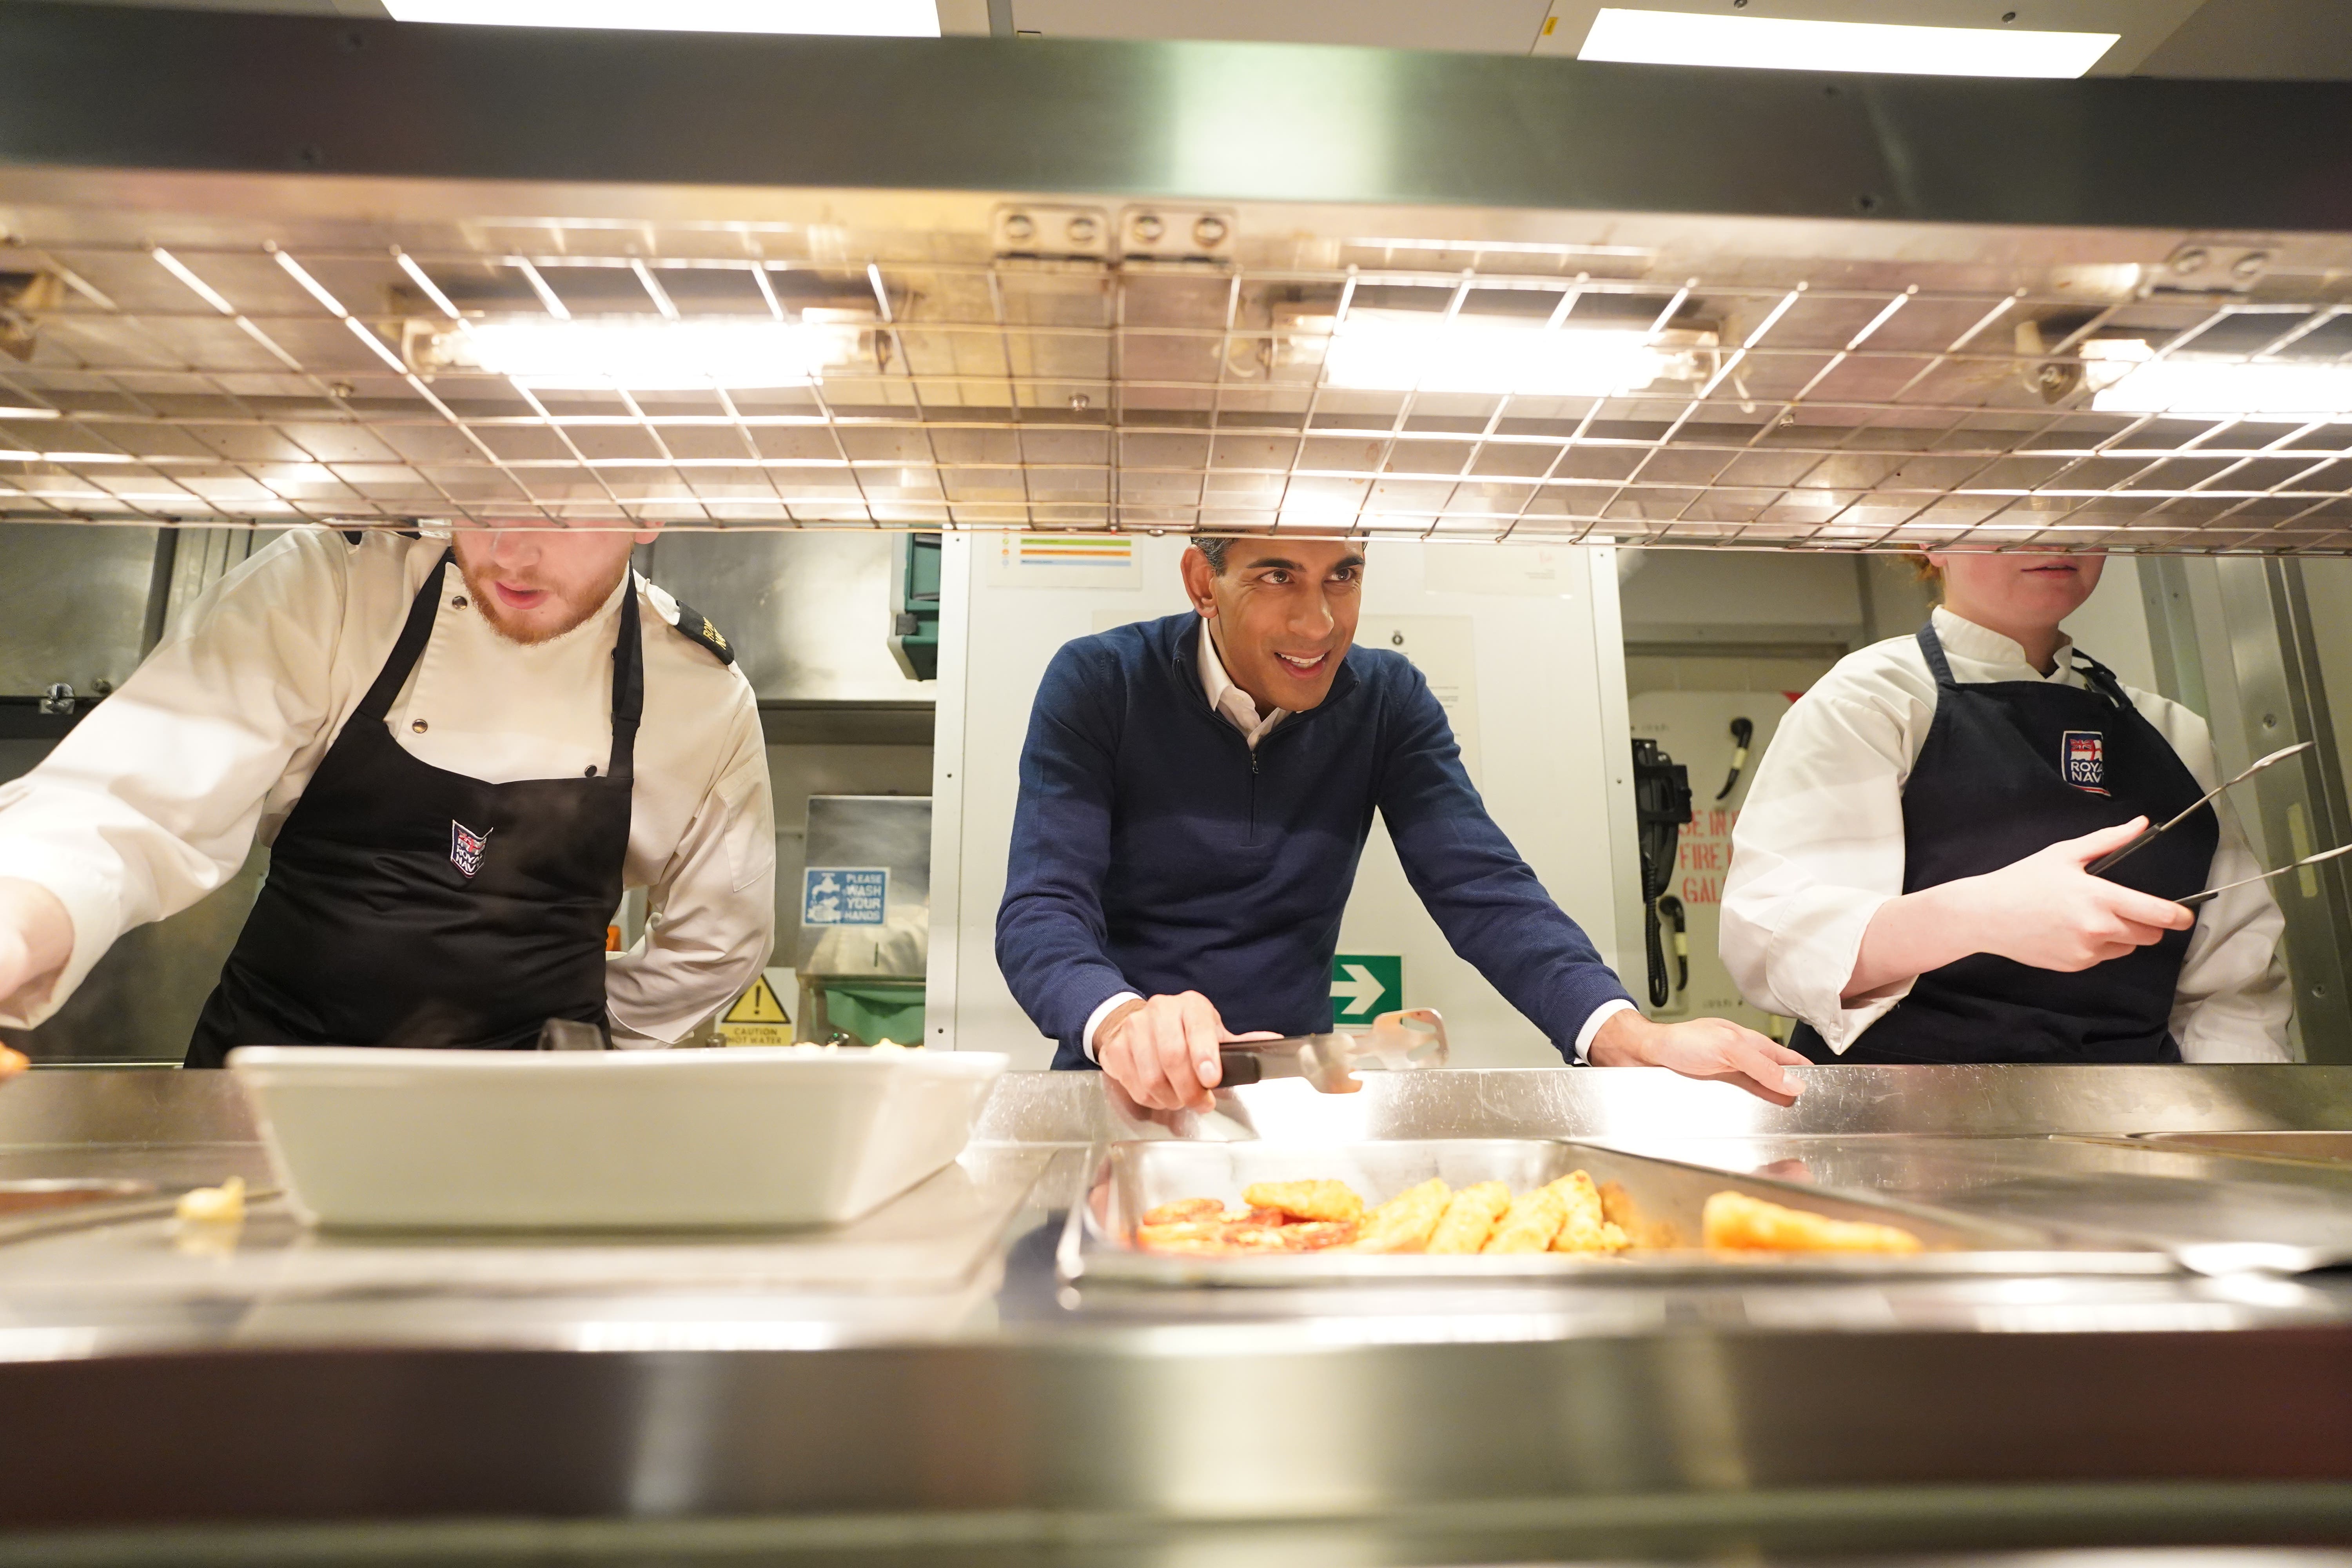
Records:
[[[191,1067],[233,1046],[522,1051],[548,1018],[604,1027],[644,712],[635,581],[612,654],[612,764],[494,785],[419,762],[383,724],[433,639],[447,564],[278,832]]]

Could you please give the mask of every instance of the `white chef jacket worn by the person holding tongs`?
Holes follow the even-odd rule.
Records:
[[[1952,679],[2086,686],[2060,644],[2042,675],[2009,637],[1936,611]],[[2131,705],[2180,755],[2201,790],[2220,783],[2206,722],[2169,698],[2124,686]],[[1936,677],[1917,637],[1891,637],[1849,654],[1780,719],[1748,804],[1731,827],[1724,879],[1722,954],[1740,994],[1802,1018],[1832,1051],[1851,1046],[1896,1001],[1889,994],[1844,1006],[1863,931],[1879,905],[1903,893],[1903,783],[1936,719]],[[2220,844],[2209,886],[2253,877],[2227,799],[2213,802]],[[2197,912],[2173,997],[2171,1032],[2192,1063],[2281,1063],[2293,999],[2279,964],[2286,917],[2263,884],[2223,893]]]

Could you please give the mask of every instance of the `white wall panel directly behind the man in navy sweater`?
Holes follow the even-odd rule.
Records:
[[[1131,559],[1021,559],[1018,538],[946,538],[931,842],[929,1044],[1007,1051],[1042,1039],[995,964],[995,919],[1030,701],[1054,651],[1185,609],[1183,538],[1134,538]],[[1545,889],[1621,971],[1639,966],[1632,769],[1611,550],[1378,541],[1359,644],[1414,658],[1449,703],[1470,776]],[[1388,835],[1364,849],[1341,952],[1399,954],[1404,1001],[1444,1013],[1456,1065],[1559,1056],[1446,947]],[[1639,976],[1635,976],[1639,980]],[[1383,999],[1383,1006],[1388,1001]]]

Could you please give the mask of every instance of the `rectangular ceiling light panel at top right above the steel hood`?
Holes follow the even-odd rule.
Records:
[[[1762,66],[1903,75],[2082,75],[2122,33],[1915,28],[1889,21],[1795,21],[1604,7],[1576,59],[1635,66]]]

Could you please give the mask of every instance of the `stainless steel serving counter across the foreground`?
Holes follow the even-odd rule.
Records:
[[[1303,1143],[1585,1138],[2143,1241],[2352,1246],[2352,1070],[1816,1067],[1221,1095]],[[2352,1276],[1068,1288],[1122,1128],[1014,1074],[842,1232],[0,1225],[0,1563],[1503,1561],[2352,1540]],[[1145,1128],[1160,1131],[1160,1128]],[[2199,1133],[2152,1143],[2143,1133]],[[2227,1143],[2225,1143],[2227,1147]],[[268,1161],[226,1074],[0,1086],[0,1180]],[[569,1554],[569,1556],[564,1556]]]

